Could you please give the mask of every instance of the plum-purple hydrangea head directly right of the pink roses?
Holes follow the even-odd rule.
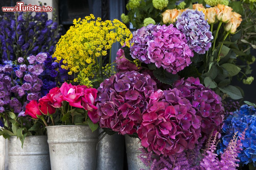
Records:
[[[100,127],[122,135],[135,133],[154,90],[156,82],[150,75],[137,71],[117,73],[104,80],[95,100]]]

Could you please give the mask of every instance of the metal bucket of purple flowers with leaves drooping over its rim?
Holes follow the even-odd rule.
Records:
[[[17,136],[11,136],[8,150],[9,170],[51,169],[47,136],[26,136],[23,148]]]

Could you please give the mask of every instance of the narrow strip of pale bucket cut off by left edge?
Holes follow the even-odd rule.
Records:
[[[8,139],[0,136],[0,169],[8,169]]]

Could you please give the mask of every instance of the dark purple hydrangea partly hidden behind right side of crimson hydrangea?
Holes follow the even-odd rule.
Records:
[[[177,80],[173,88],[181,91],[182,96],[192,103],[196,115],[201,117],[201,131],[205,134],[220,132],[223,126],[224,107],[221,97],[213,90],[200,84],[199,78],[188,77],[188,79]],[[220,137],[220,133],[219,136]]]

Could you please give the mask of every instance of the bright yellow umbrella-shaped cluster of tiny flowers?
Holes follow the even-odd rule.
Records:
[[[95,70],[102,67],[97,66],[97,58],[106,56],[113,43],[130,45],[131,31],[117,19],[95,20],[91,14],[82,20],[74,19],[73,24],[61,36],[52,57],[56,57],[57,61],[63,60],[65,66],[62,68],[70,70],[68,74],[75,75],[74,81],[86,83],[84,80],[89,80],[88,77],[93,78]]]

